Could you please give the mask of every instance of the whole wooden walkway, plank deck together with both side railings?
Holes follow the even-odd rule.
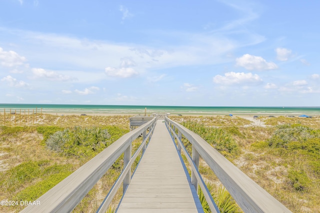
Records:
[[[142,135],[142,142],[132,155],[132,141]],[[182,135],[192,144],[188,154]],[[183,152],[191,176],[181,159]],[[136,157],[141,160],[131,176]],[[118,213],[203,213],[197,197],[200,187],[212,213],[219,213],[198,171],[199,157],[208,165],[245,213],[291,213],[258,186],[200,136],[165,117],[152,118],[112,143],[36,201],[22,213],[71,212],[90,189],[123,154],[123,170],[97,210],[105,213],[114,195],[123,186]]]

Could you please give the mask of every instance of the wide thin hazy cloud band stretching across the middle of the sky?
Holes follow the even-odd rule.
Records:
[[[72,69],[100,70],[101,67],[106,67],[105,58],[108,59],[108,67],[118,67],[117,61],[122,58],[121,63],[126,63],[123,60],[125,57],[130,58],[131,62],[134,60],[136,64],[134,70],[139,73],[151,69],[229,62],[230,59],[225,59],[227,52],[232,52],[238,47],[252,45],[252,40],[255,40],[254,38],[248,39],[250,43],[247,42],[247,39],[235,42],[228,36],[221,37],[176,30],[152,30],[148,32],[152,34],[152,37],[180,41],[174,45],[154,47],[134,43],[80,39],[61,34],[27,30],[7,29],[6,31],[32,42],[34,44],[32,58],[36,58],[41,63],[56,64],[58,62],[64,66],[73,67]],[[261,40],[257,42],[261,42]],[[63,51],[61,52],[60,49]],[[88,75],[90,75],[89,72]],[[90,77],[93,78],[93,75]]]

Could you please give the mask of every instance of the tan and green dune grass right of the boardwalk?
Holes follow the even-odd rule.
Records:
[[[194,119],[172,117],[181,124]],[[290,211],[320,213],[320,120],[290,117],[259,119],[269,126],[251,126],[246,122],[242,125],[236,122],[216,125],[221,120],[218,116],[217,121],[210,124],[205,116],[196,118],[196,122],[206,128],[212,128],[212,123],[215,123],[213,128],[231,134],[239,154],[228,159]],[[209,132],[204,130],[201,130],[206,131],[203,138]],[[200,136],[201,131],[198,132]],[[201,158],[199,171],[207,182],[219,186],[219,181]]]

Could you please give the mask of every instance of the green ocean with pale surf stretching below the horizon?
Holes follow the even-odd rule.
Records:
[[[124,113],[124,114],[164,114],[172,115],[320,115],[320,107],[198,107],[198,106],[133,106],[133,105],[68,105],[68,104],[0,104],[0,113],[8,113],[9,110],[34,110],[40,113]]]

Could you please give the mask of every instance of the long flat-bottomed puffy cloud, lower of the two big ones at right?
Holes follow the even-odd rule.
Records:
[[[232,85],[232,84],[257,84],[261,83],[262,79],[257,74],[244,72],[227,72],[224,76],[216,75],[213,77],[213,82],[216,84]]]

